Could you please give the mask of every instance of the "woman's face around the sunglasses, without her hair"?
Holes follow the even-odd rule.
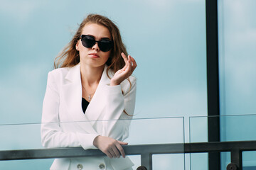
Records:
[[[95,40],[109,39],[111,40],[110,31],[97,23],[88,23],[82,28],[82,35],[90,35]],[[104,67],[108,58],[110,57],[111,50],[102,52],[98,46],[98,42],[92,47],[84,47],[81,39],[78,40],[76,45],[80,55],[81,64],[90,65],[90,67]]]

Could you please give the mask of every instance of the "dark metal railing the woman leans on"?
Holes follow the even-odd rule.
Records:
[[[231,163],[227,170],[242,170],[242,152],[255,151],[256,141],[236,142],[198,142],[180,144],[128,145],[123,146],[127,155],[141,155],[142,166],[138,169],[152,169],[153,154],[178,154],[202,152],[230,152]],[[0,151],[0,160],[48,159],[67,157],[100,157],[105,156],[99,149],[82,147],[55,149],[23,149]],[[144,166],[144,168],[143,168]]]

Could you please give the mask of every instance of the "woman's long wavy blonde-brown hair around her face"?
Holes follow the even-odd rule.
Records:
[[[109,31],[114,42],[114,47],[111,50],[109,60],[107,60],[107,73],[111,69],[112,72],[117,72],[119,69],[124,67],[125,63],[122,59],[121,52],[127,54],[126,47],[122,42],[122,38],[117,26],[107,17],[101,16],[99,14],[89,14],[80,24],[77,32],[73,36],[72,40],[68,43],[68,45],[60,52],[54,60],[54,68],[59,67],[73,67],[80,62],[79,52],[75,49],[75,45],[78,40],[80,40],[80,36],[82,34],[82,28],[88,23],[97,23],[101,26],[105,26]],[[109,77],[109,75],[107,74]]]

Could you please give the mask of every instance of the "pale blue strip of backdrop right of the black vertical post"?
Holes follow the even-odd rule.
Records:
[[[218,1],[221,140],[255,140],[256,1]],[[238,116],[235,116],[238,115]],[[242,115],[242,116],[241,116]],[[245,115],[245,116],[243,116]],[[235,128],[234,128],[235,125]],[[243,166],[255,166],[255,152],[243,154]],[[222,166],[230,162],[223,153]]]

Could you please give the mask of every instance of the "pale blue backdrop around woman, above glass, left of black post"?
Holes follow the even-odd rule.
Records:
[[[0,124],[41,122],[47,74],[87,13],[115,21],[129,54],[137,60],[134,118],[185,117],[188,141],[188,117],[207,115],[205,1],[0,4]],[[180,121],[170,123],[170,129],[183,127]],[[169,137],[176,141],[174,134]]]

